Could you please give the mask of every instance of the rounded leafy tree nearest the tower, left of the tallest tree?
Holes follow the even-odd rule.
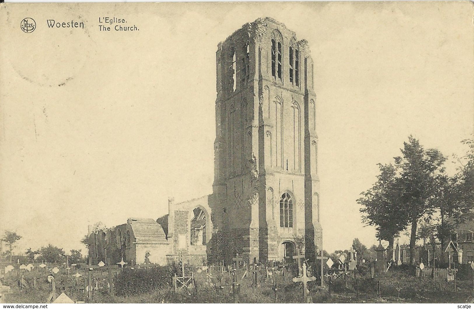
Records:
[[[403,231],[409,220],[406,208],[401,204],[402,187],[397,169],[392,164],[378,164],[380,174],[375,184],[362,192],[357,203],[363,207],[362,222],[375,226],[376,237],[389,243],[387,254],[392,256],[395,237]]]

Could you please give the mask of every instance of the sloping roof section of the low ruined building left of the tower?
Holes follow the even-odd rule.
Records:
[[[149,218],[128,218],[137,243],[164,243],[166,238],[163,228]]]

